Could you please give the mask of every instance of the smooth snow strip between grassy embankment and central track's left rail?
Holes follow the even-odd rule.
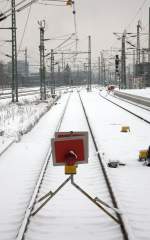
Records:
[[[15,240],[67,95],[0,159],[0,239]]]

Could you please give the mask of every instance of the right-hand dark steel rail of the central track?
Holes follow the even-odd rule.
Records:
[[[83,112],[84,112],[84,115],[85,115],[85,118],[86,118],[89,130],[90,130],[90,134],[91,134],[91,137],[92,137],[92,140],[93,140],[93,143],[94,143],[95,150],[97,152],[97,157],[98,157],[98,160],[99,160],[99,163],[100,163],[100,166],[101,166],[101,169],[102,169],[105,181],[106,181],[106,185],[108,187],[108,191],[109,191],[109,194],[110,194],[113,206],[114,206],[114,208],[118,209],[117,200],[116,200],[115,194],[113,192],[112,185],[111,185],[111,182],[109,180],[107,171],[106,171],[105,166],[103,164],[103,161],[102,161],[102,158],[101,158],[101,155],[100,155],[100,152],[99,152],[99,148],[98,148],[98,145],[96,143],[95,136],[94,136],[92,127],[90,125],[90,121],[88,119],[88,115],[86,113],[86,109],[85,109],[84,103],[82,101],[82,98],[81,98],[81,95],[80,95],[79,92],[78,92],[78,94],[79,94],[79,98],[80,98],[80,102],[81,102],[81,105],[82,105],[82,108],[83,108]],[[125,223],[124,223],[124,221],[122,219],[122,216],[120,214],[118,214],[118,213],[116,213],[116,216],[117,216],[117,218],[118,218],[118,220],[120,222],[120,228],[121,228],[121,232],[122,232],[124,240],[129,240],[128,232],[127,232]]]

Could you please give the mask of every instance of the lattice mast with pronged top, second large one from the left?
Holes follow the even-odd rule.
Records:
[[[45,82],[45,46],[44,46],[44,32],[45,20],[39,21],[40,25],[40,99],[46,100],[46,82]]]

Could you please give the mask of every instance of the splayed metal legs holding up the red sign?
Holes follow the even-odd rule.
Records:
[[[43,208],[46,205],[46,203],[49,202],[69,181],[71,181],[71,184],[77,190],[79,190],[83,195],[85,195],[92,203],[94,203],[98,208],[100,208],[103,212],[105,212],[116,223],[120,224],[119,220],[116,217],[114,217],[109,211],[107,211],[103,206],[113,210],[117,214],[121,214],[119,209],[116,209],[114,207],[109,206],[107,203],[105,203],[104,201],[102,201],[98,197],[92,198],[87,192],[85,192],[79,185],[77,185],[74,182],[74,176],[73,175],[70,175],[69,178],[67,178],[54,192],[49,191],[47,194],[45,194],[43,197],[41,197],[36,203],[39,203],[46,198],[47,199],[31,214],[31,216],[34,216],[36,213],[38,213],[40,211],[40,209]]]

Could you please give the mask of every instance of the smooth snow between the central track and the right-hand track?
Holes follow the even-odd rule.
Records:
[[[82,99],[106,162],[119,160],[126,163],[125,167],[109,171],[119,193],[117,196],[121,210],[128,219],[134,239],[148,240],[150,168],[138,162],[138,152],[148,148],[150,144],[150,126],[101,98],[98,93],[82,94]],[[130,126],[131,132],[120,132],[121,126]]]

